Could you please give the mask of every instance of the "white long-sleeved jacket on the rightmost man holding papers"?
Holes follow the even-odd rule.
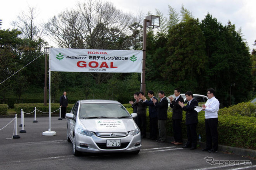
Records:
[[[212,97],[205,103],[205,119],[218,118],[218,111],[220,107],[220,102],[215,97]]]

